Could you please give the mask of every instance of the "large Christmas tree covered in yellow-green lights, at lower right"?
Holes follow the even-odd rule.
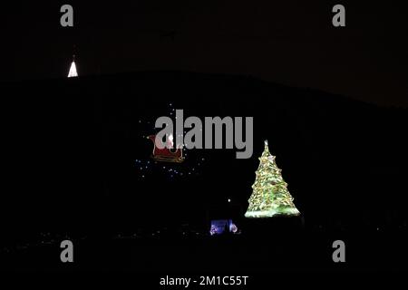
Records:
[[[293,203],[287,190],[287,183],[282,178],[281,169],[277,168],[275,156],[272,156],[265,141],[265,150],[259,158],[257,177],[252,185],[252,195],[245,217],[270,218],[274,216],[297,216],[300,212]]]

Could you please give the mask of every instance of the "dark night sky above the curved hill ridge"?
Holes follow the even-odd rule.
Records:
[[[255,76],[365,102],[408,105],[402,2],[15,1],[3,5],[1,81],[178,70]],[[60,25],[73,5],[74,27]]]

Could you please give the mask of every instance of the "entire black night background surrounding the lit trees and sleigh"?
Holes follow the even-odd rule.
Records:
[[[346,5],[337,30],[332,4],[273,4],[273,17],[270,5],[80,5],[73,29],[58,26],[55,3],[5,10],[2,266],[404,269],[403,10]],[[80,77],[65,79],[73,45]],[[254,117],[252,158],[192,150],[170,166],[204,158],[199,174],[170,179],[153,168],[141,179],[134,161],[152,149],[144,121],[170,103],[186,116]],[[242,218],[266,139],[301,218]],[[242,234],[203,235],[216,211]],[[65,237],[79,245],[73,266],[59,261]],[[346,242],[345,265],[331,259],[335,239]]]

